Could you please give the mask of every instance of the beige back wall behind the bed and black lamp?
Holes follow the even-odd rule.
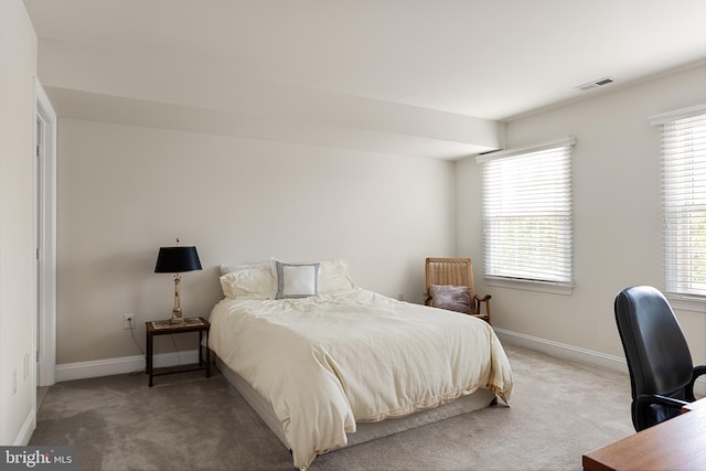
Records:
[[[174,237],[204,268],[182,275],[186,315],[221,299],[220,264],[343,257],[360,286],[420,302],[424,258],[454,250],[449,161],[60,118],[57,168],[58,364],[139,354],[122,314],[142,347],[171,315],[153,270]]]

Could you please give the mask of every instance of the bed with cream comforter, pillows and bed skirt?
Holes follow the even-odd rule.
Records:
[[[208,346],[296,468],[495,397],[510,405],[510,363],[481,320],[362,289],[344,260],[222,271]]]

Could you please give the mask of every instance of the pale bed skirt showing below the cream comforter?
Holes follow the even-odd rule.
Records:
[[[240,375],[223,363],[217,355],[214,356],[216,356],[216,366],[223,376],[235,387],[250,407],[255,409],[257,415],[267,424],[279,441],[281,441],[287,449],[291,449],[285,438],[281,422],[277,418],[269,400],[256,392]],[[431,409],[419,410],[409,416],[388,418],[378,422],[356,422],[357,431],[355,433],[347,433],[346,447],[482,409],[488,407],[494,398],[495,395],[489,389],[478,389],[475,393],[460,397],[451,403]]]

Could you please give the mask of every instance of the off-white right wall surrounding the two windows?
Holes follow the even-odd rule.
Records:
[[[706,103],[702,65],[507,124],[507,148],[576,136],[571,296],[489,287],[498,328],[549,343],[622,357],[616,293],[663,288],[659,129],[649,117]],[[482,274],[481,168],[458,163],[458,251]],[[695,361],[706,361],[706,314],[677,311]]]

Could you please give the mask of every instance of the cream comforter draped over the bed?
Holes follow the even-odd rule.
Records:
[[[510,404],[505,352],[490,325],[466,314],[357,289],[224,299],[210,320],[210,347],[269,398],[300,469],[345,445],[356,420],[404,416],[478,388]]]

